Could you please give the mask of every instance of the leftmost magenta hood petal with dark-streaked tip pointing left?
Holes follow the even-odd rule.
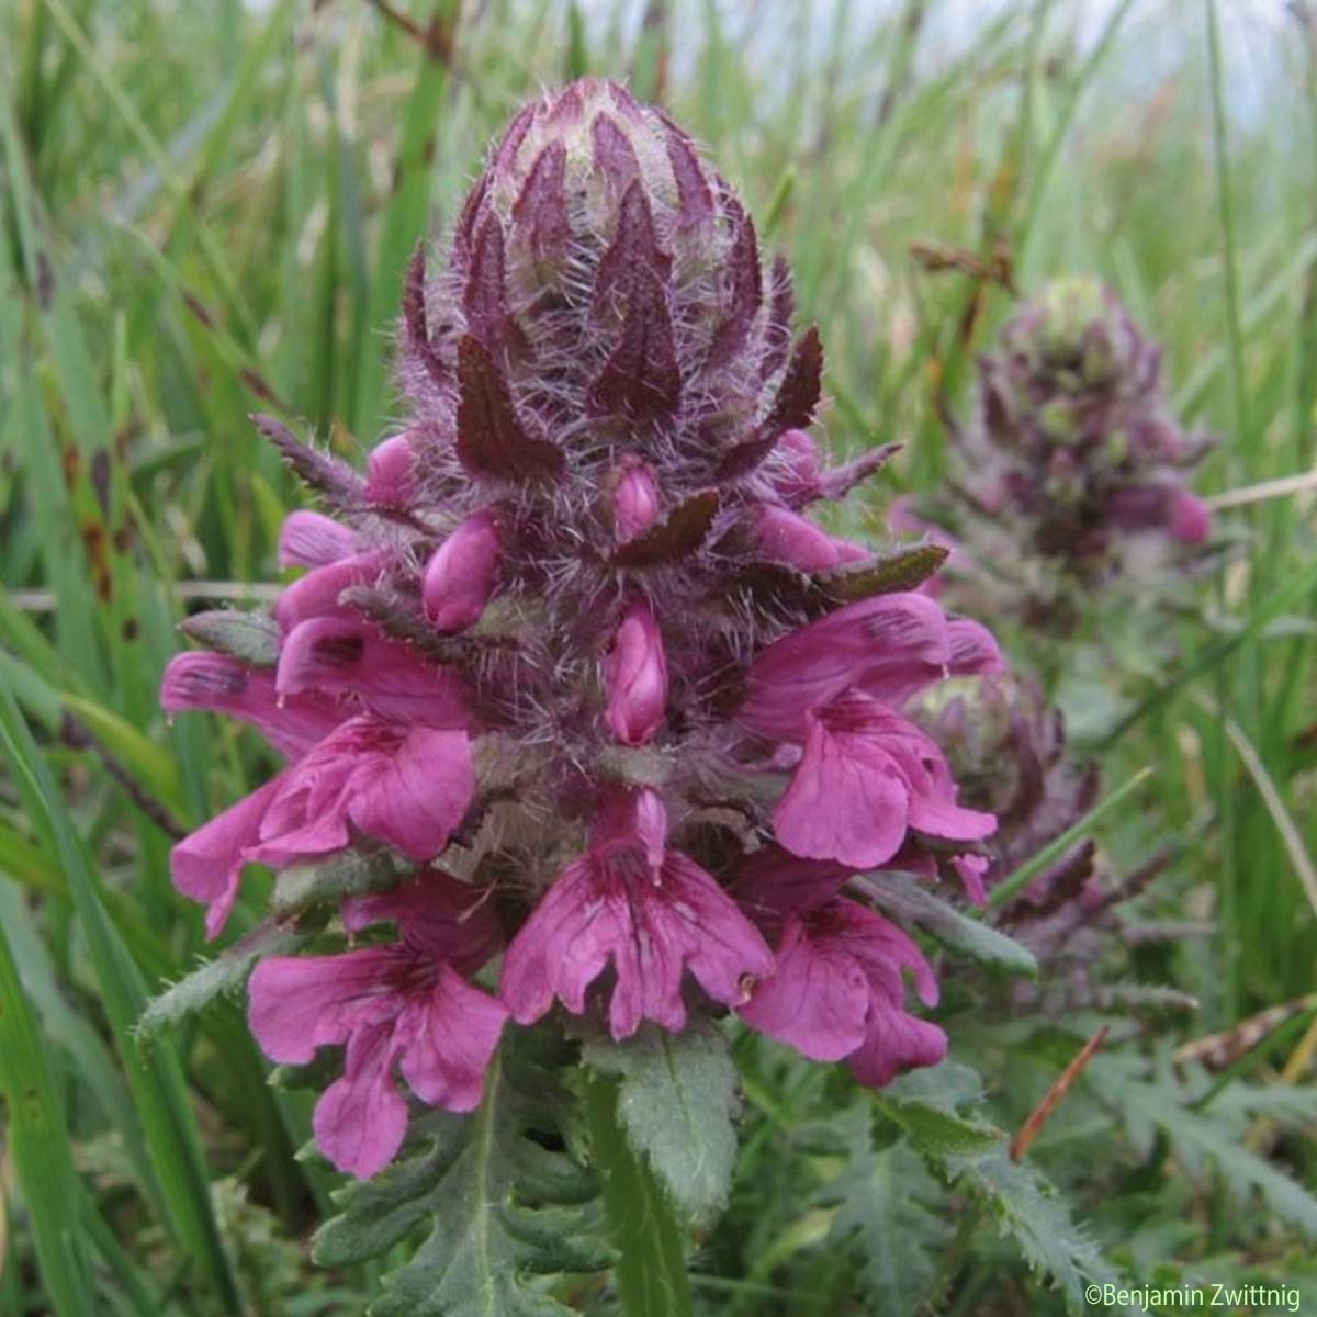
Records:
[[[333,699],[309,690],[283,699],[274,674],[228,655],[175,655],[161,681],[166,712],[204,709],[241,718],[255,727],[286,759],[300,759],[342,722]]]

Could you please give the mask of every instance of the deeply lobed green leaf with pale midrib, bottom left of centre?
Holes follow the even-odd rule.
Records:
[[[316,1234],[316,1260],[362,1262],[429,1221],[371,1317],[565,1317],[552,1277],[608,1262],[594,1177],[544,1146],[561,1137],[568,1101],[545,1068],[506,1043],[478,1110],[416,1121],[411,1156],[335,1196],[342,1214]]]

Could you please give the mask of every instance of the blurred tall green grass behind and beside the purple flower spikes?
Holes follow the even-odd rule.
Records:
[[[398,4],[0,4],[5,1312],[345,1310],[374,1284],[308,1279],[332,1180],[294,1159],[307,1100],[265,1087],[241,1004],[134,1030],[203,952],[170,830],[271,768],[233,727],[167,728],[155,689],[198,597],[278,578],[299,494],[248,414],[353,457],[386,432],[406,259],[541,86],[624,76],[707,144],[820,324],[828,443],[906,444],[857,514],[873,535],[935,485],[939,404],[964,406],[1013,300],[913,242],[1009,259],[1025,292],[1106,279],[1220,436],[1202,493],[1313,469],[1304,7]],[[1108,846],[1173,840],[1162,913],[1216,921],[1176,965],[1185,1035],[1313,992],[1317,963],[1313,493],[1223,508],[1218,533],[1173,633],[1118,680],[1076,660],[1073,697],[1096,672],[1106,723],[1130,715],[1109,785],[1154,769]]]

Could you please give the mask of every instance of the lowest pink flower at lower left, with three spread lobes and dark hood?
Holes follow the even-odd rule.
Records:
[[[498,943],[478,893],[429,871],[344,907],[352,930],[379,921],[396,923],[396,942],[336,956],[271,956],[248,988],[252,1031],[271,1060],[306,1065],[317,1048],[345,1046],[342,1077],[321,1094],[312,1125],[320,1151],[360,1177],[387,1166],[407,1131],[394,1067],[423,1101],[473,1110],[507,1018],[464,977]]]

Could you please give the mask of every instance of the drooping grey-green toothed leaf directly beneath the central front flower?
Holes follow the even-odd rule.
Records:
[[[699,1230],[727,1205],[736,1160],[736,1067],[707,1019],[680,1034],[652,1025],[615,1043],[586,1043],[585,1059],[620,1079],[618,1121],[674,1205]]]

